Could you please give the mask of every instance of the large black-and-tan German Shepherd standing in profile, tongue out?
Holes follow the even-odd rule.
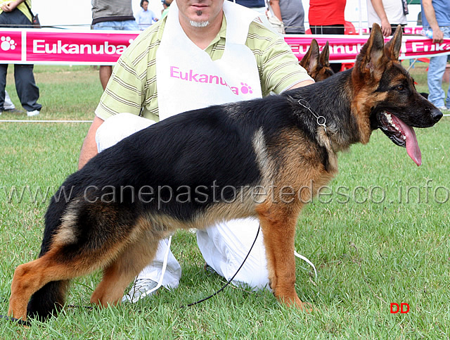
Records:
[[[338,151],[368,143],[380,128],[420,165],[413,127],[442,117],[416,92],[400,46],[401,30],[385,45],[374,25],[352,70],[278,96],[181,113],[99,153],[59,189],[72,188],[70,200],[51,200],[39,258],[15,270],[8,315],[49,317],[70,280],[98,268],[91,302],[118,303],[160,239],[249,216],[260,221],[274,295],[305,308],[294,287],[295,226],[304,202],[338,172]],[[301,190],[311,182],[312,193]],[[286,186],[298,194],[282,201]],[[180,188],[190,199],[171,196]]]

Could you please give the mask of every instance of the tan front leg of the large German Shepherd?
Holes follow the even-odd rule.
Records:
[[[258,209],[264,234],[269,282],[278,301],[304,309],[295,292],[294,237],[297,214],[275,205]]]

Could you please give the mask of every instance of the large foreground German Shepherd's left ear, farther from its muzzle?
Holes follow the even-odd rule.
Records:
[[[377,23],[374,23],[371,36],[367,39],[366,44],[364,44],[356,58],[356,69],[363,74],[367,71],[373,73],[375,70],[383,72],[385,61],[384,47],[385,40],[381,28]]]

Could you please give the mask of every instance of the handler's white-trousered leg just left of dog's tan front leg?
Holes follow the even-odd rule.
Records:
[[[245,256],[255,241],[258,228],[257,218],[221,222],[197,232],[198,247],[206,263],[229,280],[244,263]],[[248,284],[252,289],[269,289],[269,272],[261,231],[233,283]]]

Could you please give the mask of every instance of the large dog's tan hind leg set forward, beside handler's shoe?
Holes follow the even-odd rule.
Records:
[[[103,279],[91,296],[91,303],[101,306],[116,305],[136,275],[155,257],[158,240],[141,237],[139,241],[129,244],[117,259],[103,273]]]

